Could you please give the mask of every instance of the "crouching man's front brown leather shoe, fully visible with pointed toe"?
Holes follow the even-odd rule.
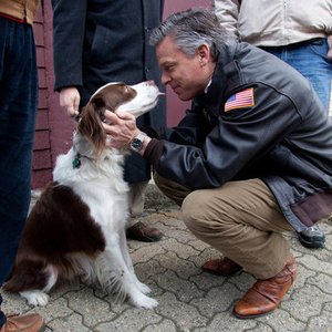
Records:
[[[239,319],[263,315],[274,310],[297,277],[297,263],[291,257],[284,268],[270,279],[257,280],[234,308]]]

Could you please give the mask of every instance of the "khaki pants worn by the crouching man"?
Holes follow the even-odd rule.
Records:
[[[290,255],[284,219],[272,193],[258,178],[190,191],[155,175],[160,190],[181,205],[190,231],[258,279],[276,276]]]

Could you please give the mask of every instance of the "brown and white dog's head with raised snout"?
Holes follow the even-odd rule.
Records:
[[[82,108],[77,133],[90,141],[100,154],[105,147],[106,134],[102,125],[105,111],[126,111],[138,117],[154,108],[162,93],[154,81],[135,85],[108,83],[100,87]]]

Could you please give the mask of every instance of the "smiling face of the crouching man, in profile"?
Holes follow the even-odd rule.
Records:
[[[194,56],[188,58],[167,35],[156,46],[156,54],[163,71],[162,82],[169,84],[181,101],[188,101],[203,94],[210,77],[201,54],[196,51]]]

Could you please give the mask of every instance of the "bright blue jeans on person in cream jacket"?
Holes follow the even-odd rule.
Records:
[[[329,112],[332,62],[326,56],[329,51],[326,39],[287,46],[261,49],[283,60],[307,77],[322,101],[326,113]]]

